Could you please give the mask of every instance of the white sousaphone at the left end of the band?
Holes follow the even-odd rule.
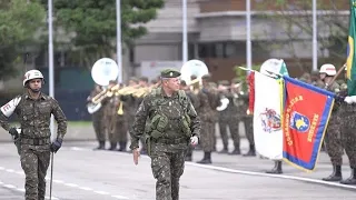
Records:
[[[91,68],[92,80],[101,86],[109,86],[110,80],[116,80],[119,76],[119,67],[115,60],[109,58],[102,58],[97,60]],[[93,98],[98,99],[98,98]],[[95,113],[101,108],[101,102],[89,102],[87,109],[89,113]]]

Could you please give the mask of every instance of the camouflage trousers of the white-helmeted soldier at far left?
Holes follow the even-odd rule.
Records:
[[[46,174],[50,162],[50,149],[47,146],[21,146],[21,167],[23,169],[24,199],[44,200]]]

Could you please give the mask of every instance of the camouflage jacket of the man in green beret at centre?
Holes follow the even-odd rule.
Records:
[[[154,121],[152,119],[158,114],[164,114],[168,118],[162,139],[184,138],[179,123],[185,114],[190,118],[191,136],[197,136],[198,138],[200,136],[200,120],[190,100],[186,98],[187,106],[184,108],[185,106],[180,102],[178,92],[168,97],[161,88],[157,90],[160,90],[160,92],[152,91],[144,98],[136,112],[132,129],[130,130],[131,149],[138,148],[138,141],[145,133],[146,119],[149,118],[150,121]]]

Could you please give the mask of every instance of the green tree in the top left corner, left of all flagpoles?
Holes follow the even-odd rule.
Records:
[[[37,2],[2,0],[0,2],[0,80],[16,76],[22,60],[23,47],[32,43],[46,12]],[[21,71],[22,73],[22,71]]]

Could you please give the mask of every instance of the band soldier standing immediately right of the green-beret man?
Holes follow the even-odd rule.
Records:
[[[210,76],[202,76],[202,89],[198,92],[199,108],[197,112],[201,120],[201,141],[204,158],[198,163],[211,163],[211,152],[215,150],[215,113],[219,106],[219,96],[210,87]]]

